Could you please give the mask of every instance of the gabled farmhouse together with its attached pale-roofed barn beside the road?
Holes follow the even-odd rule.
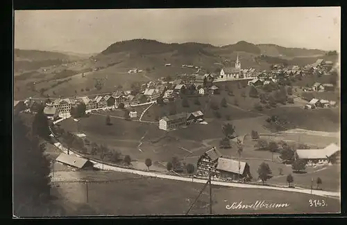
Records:
[[[251,178],[248,163],[223,157],[215,147],[199,157],[196,174],[199,177],[208,177],[211,174],[211,177],[219,179]]]

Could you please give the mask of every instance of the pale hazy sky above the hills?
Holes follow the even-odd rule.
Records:
[[[139,38],[339,51],[340,33],[339,7],[15,11],[15,48],[71,53]]]

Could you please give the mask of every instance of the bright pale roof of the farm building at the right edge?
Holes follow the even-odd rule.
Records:
[[[296,154],[298,154],[300,159],[326,159],[339,151],[340,147],[331,143],[327,147],[321,149],[296,150]]]

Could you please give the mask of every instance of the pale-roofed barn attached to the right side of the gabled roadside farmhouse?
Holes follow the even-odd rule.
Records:
[[[233,159],[226,159],[219,157],[217,160],[217,172],[219,178],[228,179],[234,177],[251,177],[251,172],[248,163],[244,161],[236,161]]]

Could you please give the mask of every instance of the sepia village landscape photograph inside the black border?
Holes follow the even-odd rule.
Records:
[[[341,212],[341,8],[13,17],[13,217]]]

